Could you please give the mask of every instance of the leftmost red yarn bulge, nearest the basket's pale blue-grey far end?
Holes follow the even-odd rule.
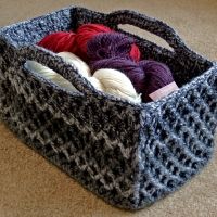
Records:
[[[37,44],[55,53],[63,51],[75,53],[77,49],[75,47],[75,36],[73,31],[58,31],[46,36]]]

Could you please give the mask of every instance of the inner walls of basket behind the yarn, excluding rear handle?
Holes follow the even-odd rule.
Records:
[[[110,22],[107,15],[104,13],[82,8],[71,8],[4,27],[0,30],[0,35],[7,38],[7,40],[15,47],[23,47],[35,44],[51,33],[75,30],[84,23],[101,23],[117,31],[125,33],[118,28],[117,24]],[[125,34],[130,35],[136,39],[142,59],[152,59],[167,64],[179,87],[189,82],[192,78],[200,76],[213,66],[210,61],[192,51],[190,51],[188,55],[181,55],[180,53],[173,52],[166,48],[161,48],[136,35],[129,33]]]

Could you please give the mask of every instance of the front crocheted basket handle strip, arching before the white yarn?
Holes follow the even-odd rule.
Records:
[[[99,94],[92,85],[77,72],[76,66],[74,67],[73,65],[67,64],[61,56],[58,56],[43,48],[38,46],[23,47],[18,50],[16,58],[21,61],[22,65],[24,65],[27,60],[30,60],[53,69],[84,94]]]

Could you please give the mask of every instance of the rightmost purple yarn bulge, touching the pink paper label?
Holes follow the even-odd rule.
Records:
[[[145,72],[142,91],[142,101],[144,102],[152,101],[149,97],[150,93],[174,81],[170,69],[163,63],[143,60],[139,62],[139,66]]]

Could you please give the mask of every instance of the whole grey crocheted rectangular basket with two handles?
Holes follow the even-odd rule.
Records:
[[[84,23],[119,31],[119,24],[130,24],[165,39],[174,51],[126,33],[135,37],[142,59],[170,67],[180,89],[133,104],[99,92],[76,67],[34,46],[49,33]],[[60,73],[78,92],[29,72],[26,60]],[[127,10],[63,9],[0,29],[0,117],[26,144],[110,204],[139,209],[179,189],[210,158],[217,65],[158,20]]]

